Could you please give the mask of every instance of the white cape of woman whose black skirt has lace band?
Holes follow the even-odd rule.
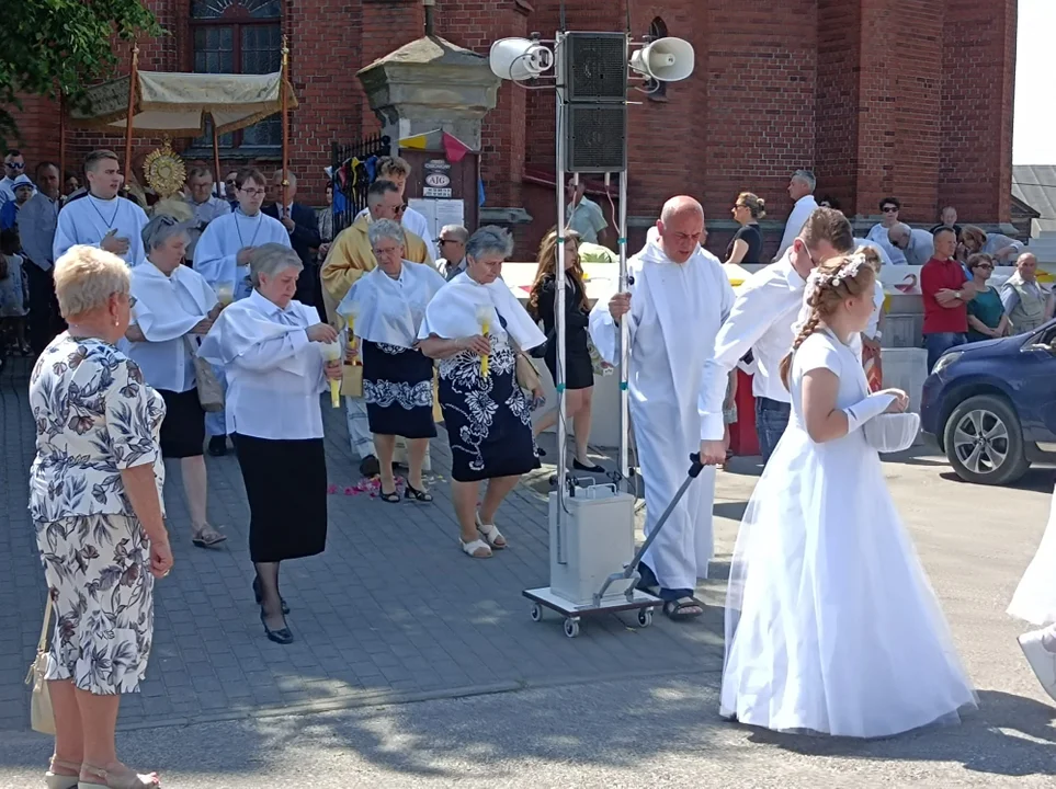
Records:
[[[353,331],[363,340],[413,347],[425,308],[446,284],[428,263],[404,261],[395,279],[378,267],[352,284],[338,305],[338,315],[354,315]]]

